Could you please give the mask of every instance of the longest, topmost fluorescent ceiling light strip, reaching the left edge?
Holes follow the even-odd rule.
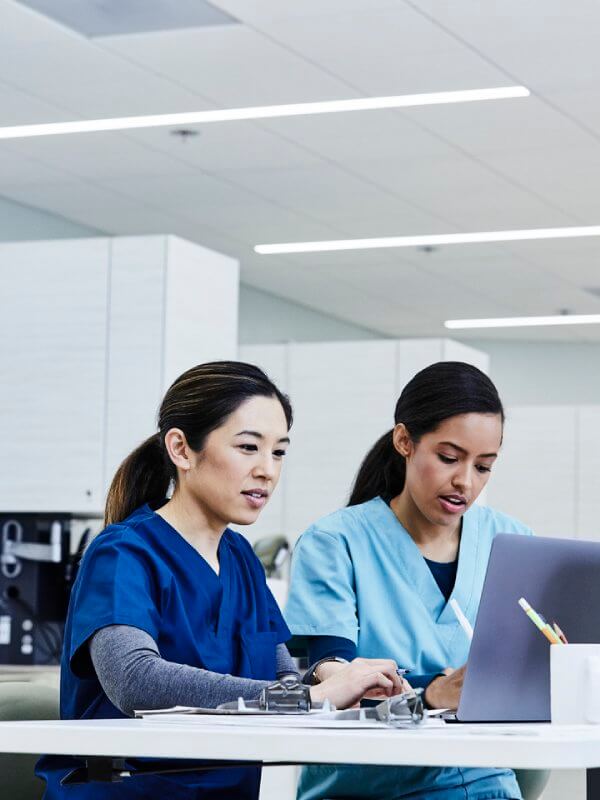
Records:
[[[362,97],[354,100],[331,100],[318,103],[293,103],[279,106],[255,106],[182,114],[153,114],[144,117],[117,117],[73,122],[49,122],[41,125],[12,125],[0,128],[0,139],[24,139],[31,136],[57,136],[67,133],[121,131],[130,128],[157,128],[176,125],[200,125],[209,122],[233,122],[244,119],[296,117],[307,114],[334,114],[342,111],[373,111],[382,108],[408,108],[444,103],[473,103],[479,100],[508,100],[529,97],[525,86],[501,86],[495,89],[466,89],[458,92],[430,92],[394,97]]]

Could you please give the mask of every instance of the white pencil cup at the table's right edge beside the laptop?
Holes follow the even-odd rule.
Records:
[[[600,724],[600,644],[550,646],[553,723]]]

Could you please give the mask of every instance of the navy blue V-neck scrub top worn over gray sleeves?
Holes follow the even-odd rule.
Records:
[[[250,544],[227,529],[219,575],[148,505],[110,525],[90,544],[71,594],[61,663],[61,718],[122,714],[94,672],[88,641],[107,625],[131,625],[152,636],[167,661],[244,678],[274,680],[276,647],[290,638]],[[201,754],[199,754],[201,755]],[[256,798],[258,769],[181,776],[144,776],[120,784],[61,787],[75,759],[43,757],[37,774],[44,797]]]

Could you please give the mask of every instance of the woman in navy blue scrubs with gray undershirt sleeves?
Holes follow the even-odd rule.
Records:
[[[230,522],[255,521],[277,485],[292,410],[257,367],[202,364],[181,375],[158,432],[119,467],[107,527],[75,582],[61,664],[63,719],[105,719],[136,708],[214,707],[256,697],[295,669],[290,632],[260,562]],[[174,487],[167,499],[169,487]],[[338,707],[397,693],[391,660],[359,659],[311,688]],[[81,761],[46,756],[45,798],[255,800],[258,768],[136,776],[62,785]]]

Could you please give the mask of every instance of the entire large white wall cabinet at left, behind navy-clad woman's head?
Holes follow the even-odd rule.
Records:
[[[235,358],[236,261],[170,236],[0,245],[0,509],[99,514],[166,386]]]

